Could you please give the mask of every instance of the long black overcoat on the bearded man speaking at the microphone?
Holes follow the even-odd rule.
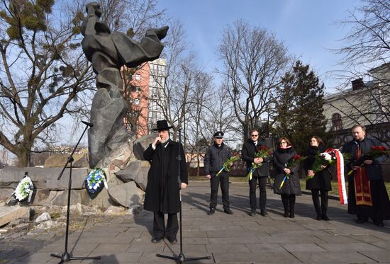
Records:
[[[184,156],[183,145],[169,139],[169,143],[165,149],[165,160],[168,161],[167,175],[162,174],[162,159],[160,154],[162,144],[157,144],[156,149],[152,148],[152,144],[144,151],[143,158],[150,161],[149,173],[147,173],[147,185],[145,192],[144,208],[147,211],[158,212],[164,214],[174,214],[179,212],[179,183],[177,180],[179,162],[177,156],[182,157],[180,163],[180,180],[182,183],[188,183],[188,174],[186,167],[186,159]],[[162,186],[164,185],[164,186]],[[162,205],[162,208],[161,206]]]

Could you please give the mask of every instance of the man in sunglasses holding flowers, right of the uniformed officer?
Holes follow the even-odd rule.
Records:
[[[257,155],[263,152],[267,155]],[[251,173],[249,180],[249,200],[250,200],[250,216],[256,215],[256,184],[259,181],[260,188],[260,214],[264,217],[267,215],[265,205],[267,202],[267,178],[269,176],[268,161],[271,159],[269,149],[264,146],[264,142],[259,139],[257,130],[250,131],[250,139],[244,143],[241,151],[243,161],[247,163],[247,171]]]

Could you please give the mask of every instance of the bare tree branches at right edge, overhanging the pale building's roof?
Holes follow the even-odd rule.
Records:
[[[372,125],[378,134],[386,135],[390,123],[390,5],[386,0],[362,0],[340,25],[350,27],[342,39],[344,45],[335,50],[342,55],[344,67],[337,75],[342,102],[330,105],[345,115],[346,127],[352,122]],[[351,91],[351,81],[361,81],[359,91]],[[359,102],[359,103],[356,103]]]

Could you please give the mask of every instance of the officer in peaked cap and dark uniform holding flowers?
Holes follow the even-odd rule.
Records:
[[[223,143],[223,132],[218,131],[213,134],[214,144],[208,147],[204,156],[204,173],[210,179],[211,195],[210,195],[210,212],[209,215],[216,212],[218,187],[221,183],[223,212],[233,214],[230,210],[229,203],[229,173],[225,170],[221,171],[218,176],[216,174],[221,170],[223,163],[230,158],[231,153],[228,147]]]

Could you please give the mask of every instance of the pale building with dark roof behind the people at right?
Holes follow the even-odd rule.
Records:
[[[369,80],[352,81],[352,88],[325,97],[324,115],[328,130],[335,132],[334,144],[350,140],[350,128],[367,127],[371,137],[390,141],[390,64],[369,70]]]

